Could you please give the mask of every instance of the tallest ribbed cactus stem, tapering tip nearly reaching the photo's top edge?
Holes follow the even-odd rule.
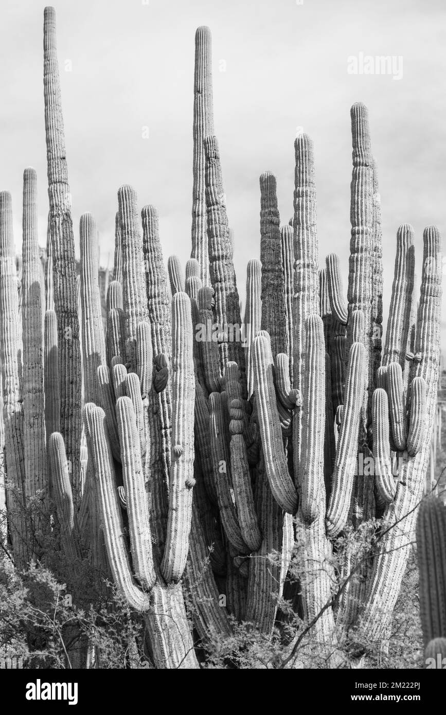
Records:
[[[53,247],[54,304],[58,325],[61,434],[71,462],[74,503],[79,494],[81,349],[76,303],[71,194],[66,167],[54,8],[44,11],[44,99],[48,195]]]

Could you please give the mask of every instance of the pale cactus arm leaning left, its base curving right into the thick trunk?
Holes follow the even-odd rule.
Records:
[[[297,511],[297,492],[288,473],[282,432],[272,380],[271,353],[268,340],[258,335],[253,345],[255,395],[264,465],[274,499],[289,514]]]

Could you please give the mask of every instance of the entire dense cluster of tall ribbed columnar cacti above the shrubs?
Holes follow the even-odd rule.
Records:
[[[414,231],[398,230],[382,349],[380,194],[367,108],[355,104],[347,299],[338,257],[330,254],[319,268],[314,147],[300,134],[294,215],[282,227],[277,179],[260,177],[260,260],[247,266],[242,320],[207,27],[197,30],[195,47],[191,259],[183,272],[171,256],[165,270],[157,209],[145,206],[140,218],[134,189],[120,187],[104,332],[89,213],[79,226],[78,309],[55,14],[44,11],[44,302],[34,169],[24,172],[20,305],[11,197],[0,194],[0,360],[14,557],[21,568],[44,558],[31,536],[57,516],[66,558],[75,563],[81,548],[89,551],[144,617],[157,668],[199,666],[185,586],[201,641],[229,635],[234,619],[271,634],[293,548],[302,569],[293,598],[315,637],[330,652],[352,628],[382,641],[430,452],[440,234],[434,226],[424,232],[417,305]],[[375,473],[358,475],[359,458],[370,455]],[[34,523],[31,498],[39,501]],[[445,566],[433,561],[445,519],[434,511],[435,529],[422,511],[417,532],[427,650],[446,637]],[[348,577],[348,547],[335,571],[342,535],[374,519],[382,519],[379,546],[355,567],[360,577]],[[440,589],[435,596],[430,583]]]

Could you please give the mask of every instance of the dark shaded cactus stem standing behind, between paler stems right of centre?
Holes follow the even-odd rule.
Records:
[[[271,172],[260,176],[260,261],[262,263],[262,330],[269,332],[272,359],[287,351],[287,316],[282,268],[282,239],[277,208],[277,182]]]

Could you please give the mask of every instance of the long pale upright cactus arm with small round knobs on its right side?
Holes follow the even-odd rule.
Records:
[[[186,566],[194,485],[195,378],[190,301],[172,298],[172,466],[169,480],[167,538],[161,563],[169,583],[179,581]]]

